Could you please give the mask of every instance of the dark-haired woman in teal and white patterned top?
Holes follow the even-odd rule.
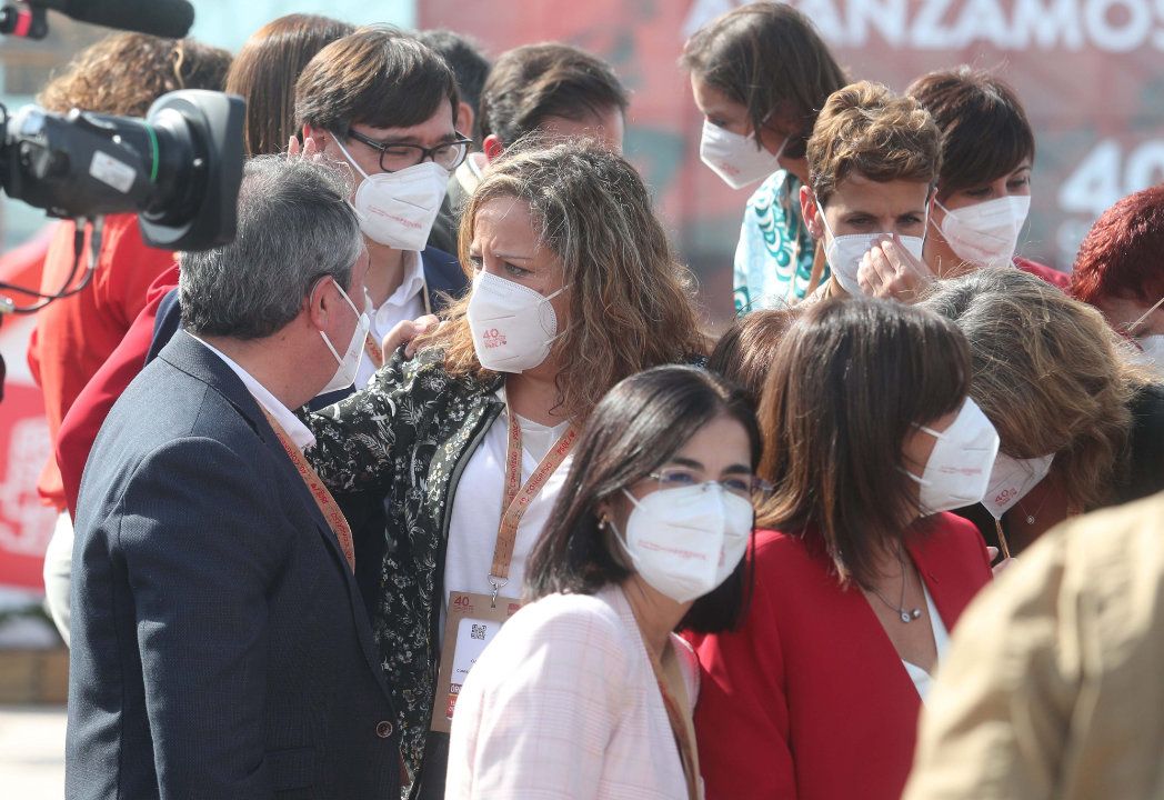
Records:
[[[779,307],[829,277],[800,207],[812,125],[849,83],[811,21],[782,2],[752,2],[700,28],[680,63],[703,114],[700,157],[732,189],[764,180],[736,248],[736,311]]]

